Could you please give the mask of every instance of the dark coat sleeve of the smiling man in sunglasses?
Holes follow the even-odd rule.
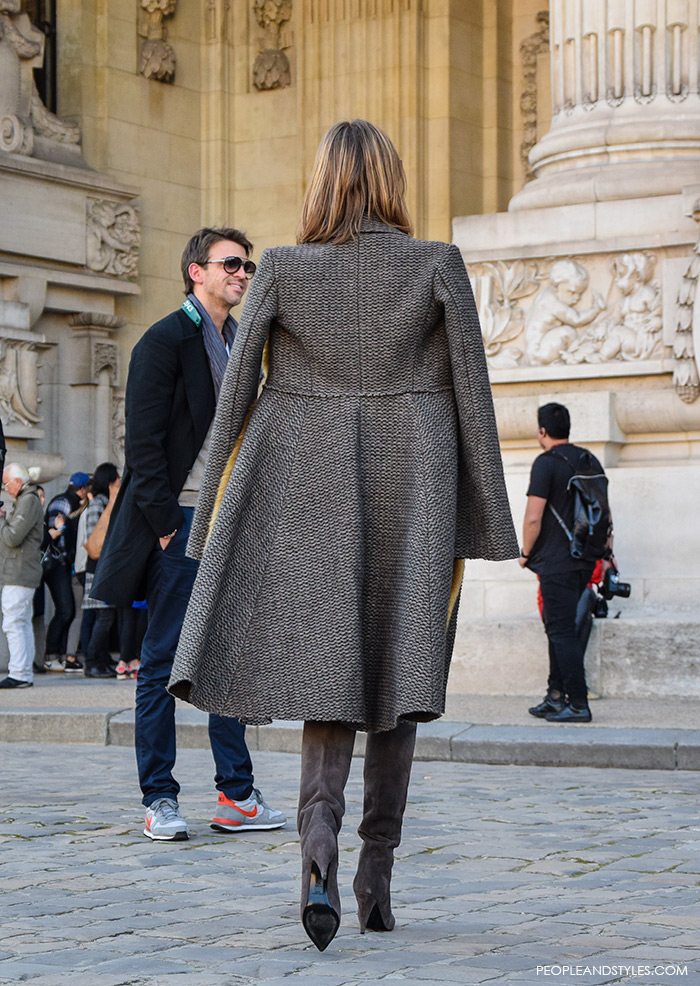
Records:
[[[178,361],[172,340],[150,329],[134,348],[126,382],[124,451],[130,490],[156,537],[171,534],[184,519],[170,489],[165,454]]]

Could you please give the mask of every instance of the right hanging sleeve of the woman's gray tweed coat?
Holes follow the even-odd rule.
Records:
[[[434,292],[444,309],[459,416],[455,556],[517,558],[479,316],[462,255],[454,244],[437,266]]]

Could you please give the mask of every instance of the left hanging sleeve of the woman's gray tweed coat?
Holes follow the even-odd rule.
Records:
[[[263,349],[276,314],[274,263],[271,252],[264,250],[251,281],[221,385],[204,478],[187,547],[187,553],[192,558],[201,558],[204,553],[221,477],[246,416],[257,398]]]

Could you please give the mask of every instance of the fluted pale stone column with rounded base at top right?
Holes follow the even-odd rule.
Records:
[[[700,175],[700,0],[551,0],[552,124],[511,210],[675,194]]]

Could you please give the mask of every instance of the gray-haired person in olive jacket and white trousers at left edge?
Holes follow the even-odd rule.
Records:
[[[0,584],[2,629],[10,652],[9,673],[0,688],[30,688],[34,683],[32,604],[41,582],[44,513],[35,483],[16,462],[2,474],[2,488],[14,499],[0,509]]]

